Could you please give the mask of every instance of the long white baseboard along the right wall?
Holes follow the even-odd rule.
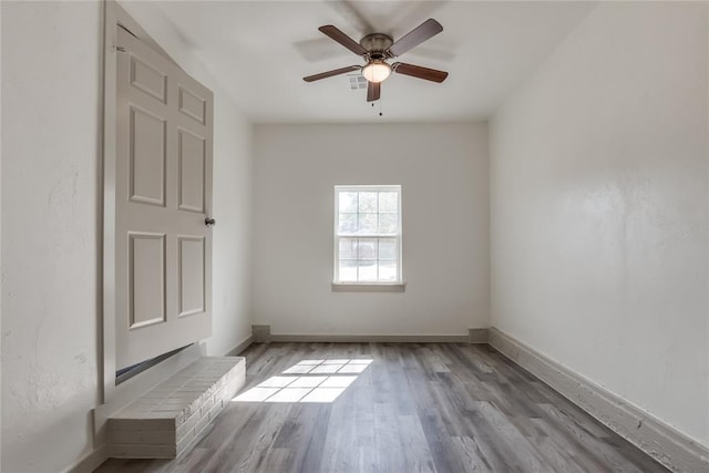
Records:
[[[575,371],[496,329],[489,343],[645,453],[676,472],[709,472],[709,449]]]

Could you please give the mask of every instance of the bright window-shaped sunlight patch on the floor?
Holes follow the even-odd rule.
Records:
[[[333,402],[369,367],[371,359],[302,360],[234,402]],[[287,374],[287,376],[284,376]]]

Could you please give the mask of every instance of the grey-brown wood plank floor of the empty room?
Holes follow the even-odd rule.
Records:
[[[349,374],[357,378],[333,402],[233,402],[184,457],[109,460],[97,471],[667,471],[486,345],[265,343],[243,354],[245,391],[264,381],[312,381],[312,371],[281,374],[302,360],[373,361]],[[291,371],[310,369],[300,368]],[[351,380],[343,377],[328,382]],[[249,395],[298,399],[308,391],[288,389]]]

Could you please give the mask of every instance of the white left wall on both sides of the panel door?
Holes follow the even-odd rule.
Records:
[[[0,4],[1,469],[56,472],[93,450],[91,410],[100,401],[101,7]],[[218,222],[207,352],[223,354],[250,326],[250,126],[189,55],[175,59],[215,92]]]

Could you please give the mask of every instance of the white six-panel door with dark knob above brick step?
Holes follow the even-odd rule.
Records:
[[[212,332],[213,95],[119,29],[116,369]],[[107,194],[110,195],[110,194]]]

